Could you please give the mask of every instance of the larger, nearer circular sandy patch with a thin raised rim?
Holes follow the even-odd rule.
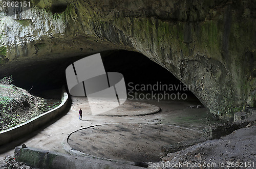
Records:
[[[160,161],[163,146],[201,138],[202,133],[160,124],[106,124],[72,133],[68,144],[82,153],[106,159]]]

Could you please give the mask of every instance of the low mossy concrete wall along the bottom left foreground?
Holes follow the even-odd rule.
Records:
[[[98,169],[98,168],[130,168],[139,169],[143,167],[120,164],[114,161],[105,161],[92,159],[82,156],[61,154],[53,151],[40,150],[36,148],[21,148],[16,147],[14,154],[18,162],[25,162],[27,165],[34,168],[62,168],[62,169]]]

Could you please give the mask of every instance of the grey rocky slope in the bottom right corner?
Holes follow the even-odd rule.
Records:
[[[148,168],[255,168],[256,125],[169,153]],[[192,167],[193,166],[193,167]],[[238,167],[237,167],[238,168]]]

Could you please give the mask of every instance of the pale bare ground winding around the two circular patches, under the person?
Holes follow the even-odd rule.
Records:
[[[72,106],[87,102],[86,98],[71,98]],[[136,102],[138,102],[138,100],[136,100]],[[202,130],[207,127],[208,123],[210,123],[209,118],[206,118],[208,116],[207,114],[209,113],[207,109],[187,108],[190,105],[199,104],[198,102],[189,102],[188,100],[163,100],[161,102],[157,102],[156,100],[140,100],[139,102],[154,104],[160,107],[162,111],[154,115],[146,116],[110,117],[92,116],[90,115],[90,109],[84,109],[84,112],[87,111],[89,114],[83,114],[83,120],[80,121],[77,111],[70,109],[65,116],[62,116],[58,120],[54,120],[51,124],[45,126],[45,128],[41,128],[16,140],[15,142],[1,146],[0,160],[5,158],[7,155],[13,156],[14,147],[22,144],[26,144],[27,147],[35,147],[39,149],[66,153],[62,147],[63,140],[65,140],[70,133],[93,125],[113,123],[148,123],[168,124]]]

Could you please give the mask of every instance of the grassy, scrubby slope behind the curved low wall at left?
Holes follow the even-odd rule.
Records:
[[[48,106],[46,99],[11,85],[12,77],[0,79],[0,131],[22,124],[55,108],[60,102]]]

